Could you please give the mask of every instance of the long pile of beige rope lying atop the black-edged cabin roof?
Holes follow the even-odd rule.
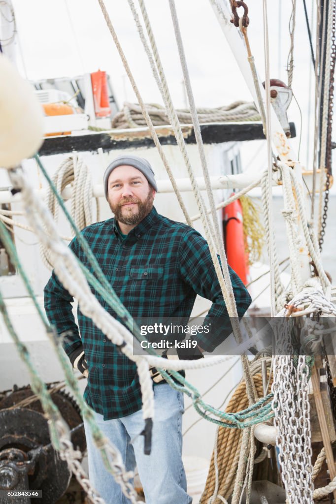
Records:
[[[154,126],[170,124],[171,121],[162,105],[147,103],[146,108]],[[190,110],[176,110],[181,124],[191,124],[192,117]],[[198,108],[197,115],[199,122],[239,122],[239,121],[260,121],[260,114],[253,102],[235,101],[230,105],[223,105],[216,108]],[[112,119],[112,128],[126,130],[128,128],[139,128],[146,126],[141,106],[138,103],[125,102],[123,109]]]

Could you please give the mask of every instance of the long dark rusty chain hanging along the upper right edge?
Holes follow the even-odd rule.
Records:
[[[333,91],[334,91],[334,71],[336,62],[336,2],[333,2],[332,8],[332,34],[331,34],[331,61],[330,61],[330,86],[329,86],[329,103],[328,103],[328,127],[327,127],[327,140],[326,140],[326,152],[325,152],[325,167],[326,167],[326,181],[325,181],[325,192],[324,192],[324,206],[323,206],[323,216],[321,223],[321,231],[318,240],[318,245],[320,251],[322,250],[322,245],[325,235],[325,227],[328,213],[328,203],[329,203],[329,187],[330,187],[330,177],[331,177],[331,132],[332,132],[332,115],[333,115]]]

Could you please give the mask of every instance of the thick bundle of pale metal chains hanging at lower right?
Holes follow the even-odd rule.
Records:
[[[274,358],[274,426],[279,464],[289,504],[313,504],[308,376],[305,356],[294,365],[290,328],[279,325]],[[281,328],[283,327],[283,331]],[[285,332],[286,331],[286,332]]]

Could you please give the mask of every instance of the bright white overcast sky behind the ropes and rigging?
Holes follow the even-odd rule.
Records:
[[[106,70],[111,77],[117,101],[136,101],[119,54],[109,34],[97,0],[12,0],[20,36],[21,55],[28,79],[72,77],[83,72]],[[146,102],[162,100],[151,74],[127,0],[106,0],[111,21],[120,37],[135,80]],[[247,0],[252,52],[258,72],[264,80],[262,1]],[[309,96],[312,70],[303,3],[297,2],[295,32],[295,69],[293,91],[303,113],[301,161],[307,162],[312,152],[313,89]],[[313,0],[307,0],[309,17]],[[314,3],[315,4],[315,3]],[[137,6],[137,1],[135,0]],[[167,0],[146,0],[163,67],[177,108],[185,106],[182,70],[177,53]],[[231,53],[208,0],[176,0],[188,68],[196,105],[215,107],[238,99],[250,100],[250,93]],[[287,56],[290,47],[289,18],[292,0],[268,0],[270,75],[287,83]],[[315,15],[313,16],[315,18]],[[313,19],[313,35],[315,19]],[[315,37],[314,37],[315,38]],[[22,66],[19,64],[22,71]],[[314,81],[311,80],[311,87]],[[295,101],[289,108],[289,119],[300,133],[300,115]],[[310,138],[308,138],[310,124]],[[260,148],[260,142],[243,150],[243,160]],[[298,151],[298,138],[293,139]],[[307,148],[309,146],[309,149]],[[266,163],[265,148],[257,156]],[[311,166],[310,166],[311,167]]]

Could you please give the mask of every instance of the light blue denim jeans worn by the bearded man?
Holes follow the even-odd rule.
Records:
[[[138,467],[146,504],[191,504],[182,464],[183,394],[168,384],[154,387],[155,416],[152,430],[152,449],[144,455],[142,411],[113,420],[103,420],[95,413],[96,422],[104,435],[120,451],[126,470]],[[100,452],[96,449],[90,429],[84,421],[89,477],[92,486],[106,504],[129,504],[114,477],[105,470]],[[132,440],[132,443],[131,443]]]

